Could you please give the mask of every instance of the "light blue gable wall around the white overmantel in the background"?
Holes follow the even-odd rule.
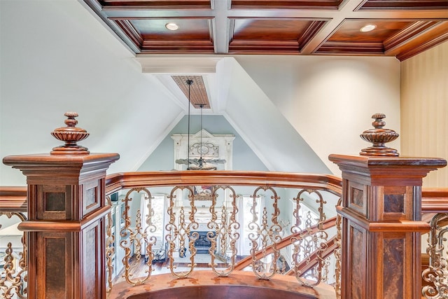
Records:
[[[202,116],[202,128],[211,134],[234,134],[233,169],[267,171],[267,167],[253,153],[251,148],[239,136],[224,116]],[[190,116],[190,133],[200,130],[200,116]],[[138,171],[171,170],[174,169],[174,141],[172,134],[188,133],[188,116],[184,116],[171,132],[160,143],[158,148],[146,159]]]

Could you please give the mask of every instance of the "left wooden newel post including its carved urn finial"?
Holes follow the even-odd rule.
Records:
[[[77,141],[77,113],[52,132],[64,146],[49,154],[12,155],[3,163],[27,176],[28,298],[106,298],[104,179],[117,153],[89,153]]]

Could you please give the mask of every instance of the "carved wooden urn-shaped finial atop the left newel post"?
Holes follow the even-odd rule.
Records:
[[[78,120],[75,118],[78,116],[76,112],[66,112],[64,116],[67,119],[64,121],[66,127],[58,127],[53,132],[52,136],[60,141],[64,141],[63,146],[57,146],[52,148],[50,152],[52,155],[86,155],[89,153],[84,146],[78,146],[76,142],[81,141],[89,137],[89,133],[86,130],[76,127]]]

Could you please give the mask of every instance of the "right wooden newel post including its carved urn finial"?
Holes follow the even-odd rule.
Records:
[[[384,142],[398,137],[382,129],[361,137],[373,146],[359,156],[330,155],[342,170],[342,298],[421,299],[421,184],[447,165],[438,158],[399,158]],[[395,136],[395,137],[393,137]]]

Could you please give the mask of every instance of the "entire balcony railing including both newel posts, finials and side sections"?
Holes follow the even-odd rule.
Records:
[[[78,113],[64,115],[66,127],[52,132],[64,146],[3,158],[27,176],[27,202],[23,190],[0,190],[0,216],[19,217],[25,231],[22,248],[5,246],[3,298],[160,298],[169,289],[188,299],[204,281],[209,293],[219,288],[240,298],[253,298],[248,286],[294,298],[447,298],[448,210],[442,198],[421,200],[423,177],[447,161],[399,158],[384,146],[398,134],[382,128],[382,113],[361,134],[372,146],[359,156],[328,156],[342,181],[232,171],[106,176],[119,154],[78,146],[89,133],[76,127]],[[420,241],[430,225],[422,211],[437,213],[423,290]],[[196,272],[202,252],[206,274]],[[169,274],[152,275],[162,259]]]

